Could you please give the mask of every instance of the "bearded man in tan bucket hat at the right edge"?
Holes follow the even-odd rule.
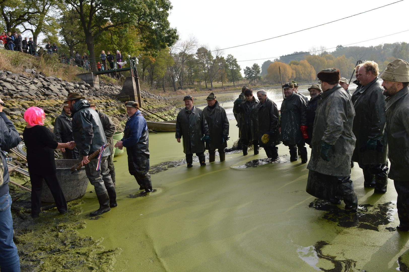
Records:
[[[396,59],[379,76],[386,100],[386,135],[391,169],[389,178],[398,193],[396,229],[409,231],[409,63]]]

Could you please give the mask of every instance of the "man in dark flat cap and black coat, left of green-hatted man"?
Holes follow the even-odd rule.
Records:
[[[205,141],[210,142],[209,127],[200,108],[193,106],[193,97],[183,98],[184,106],[176,118],[175,137],[178,143],[183,137],[183,153],[186,154],[187,168],[193,166],[193,153],[199,157],[200,166],[206,165]]]

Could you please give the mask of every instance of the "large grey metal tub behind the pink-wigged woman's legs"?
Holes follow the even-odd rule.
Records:
[[[79,162],[78,160],[55,160],[57,167],[57,178],[63,190],[65,200],[71,201],[77,198],[82,198],[87,191],[88,178],[85,174],[85,167],[71,174],[71,167]],[[54,198],[47,184],[43,180],[43,191],[41,193],[41,201],[54,203]]]

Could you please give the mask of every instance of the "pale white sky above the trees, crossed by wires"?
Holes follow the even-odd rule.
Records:
[[[171,27],[178,29],[180,39],[186,40],[192,35],[199,45],[214,50],[288,34],[390,4],[298,33],[225,49],[224,56],[232,54],[244,69],[253,63],[261,66],[268,59],[273,61],[281,55],[309,51],[312,47],[324,46],[333,51],[330,48],[337,45],[409,43],[409,31],[379,38],[409,30],[409,0],[397,1],[171,0],[173,9],[169,21]],[[397,3],[391,4],[393,2]]]

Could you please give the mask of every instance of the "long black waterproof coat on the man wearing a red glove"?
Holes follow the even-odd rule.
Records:
[[[286,146],[303,141],[301,125],[307,126],[306,102],[293,92],[281,103],[280,141]]]

